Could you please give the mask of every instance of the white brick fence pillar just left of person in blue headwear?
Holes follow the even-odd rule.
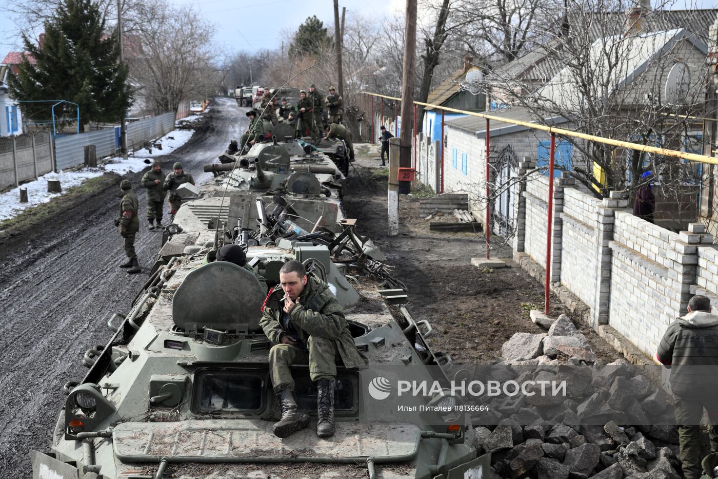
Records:
[[[611,268],[612,256],[608,243],[613,240],[614,212],[625,209],[628,200],[623,199],[620,191],[610,191],[608,198],[604,198],[598,209],[597,251],[596,258],[596,291],[595,307],[592,313],[591,326],[596,329],[599,324],[608,324],[608,314],[611,302]]]

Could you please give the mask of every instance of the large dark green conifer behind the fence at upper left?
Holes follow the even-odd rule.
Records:
[[[23,35],[29,55],[9,79],[11,95],[20,101],[67,100],[80,106],[80,123],[116,122],[131,105],[127,66],[119,63],[116,32],[106,35],[97,2],[62,0],[45,22],[45,41],[34,45]],[[26,117],[51,119],[51,103],[25,103]],[[55,107],[56,117],[76,114],[74,105]]]

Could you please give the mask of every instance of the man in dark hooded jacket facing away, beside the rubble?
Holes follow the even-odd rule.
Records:
[[[718,314],[711,313],[709,298],[699,295],[691,298],[688,311],[668,326],[656,358],[671,365],[684,478],[699,479],[699,424],[704,408],[710,421],[711,452],[718,452]]]

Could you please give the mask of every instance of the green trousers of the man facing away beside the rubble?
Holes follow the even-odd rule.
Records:
[[[699,479],[701,477],[701,426],[698,424],[703,416],[703,408],[708,412],[710,426],[708,434],[711,452],[718,452],[718,400],[714,395],[696,396],[684,399],[676,397],[676,421],[678,427],[679,444],[681,446],[680,458],[683,475],[686,479]]]

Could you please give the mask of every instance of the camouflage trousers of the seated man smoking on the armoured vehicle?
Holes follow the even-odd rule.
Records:
[[[337,375],[337,347],[333,339],[309,337],[307,349],[292,345],[274,345],[269,350],[269,374],[274,392],[286,389],[294,391],[294,379],[289,365],[308,364],[309,379],[334,380]]]

